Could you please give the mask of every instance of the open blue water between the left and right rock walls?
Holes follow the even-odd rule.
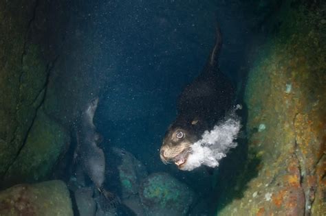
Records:
[[[166,129],[177,115],[178,96],[204,68],[217,23],[223,34],[220,68],[239,87],[241,97],[246,71],[241,71],[240,65],[250,38],[241,5],[93,1],[77,3],[76,13],[79,20],[72,25],[78,25],[70,37],[78,38],[78,49],[90,59],[83,65],[91,71],[89,85],[100,88],[94,124],[103,136],[98,146],[105,152],[109,169],[105,189],[124,202],[122,178],[116,168],[122,160],[111,151],[118,147],[137,158],[149,174],[169,173],[194,191],[197,200],[186,214],[213,215],[219,171],[212,174],[205,167],[180,171],[175,165],[164,165],[159,151]],[[223,173],[223,163],[221,166]],[[129,215],[130,211],[116,213]]]

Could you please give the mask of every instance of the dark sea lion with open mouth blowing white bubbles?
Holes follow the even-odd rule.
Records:
[[[204,131],[213,129],[232,108],[235,91],[228,78],[219,70],[221,31],[216,28],[215,46],[202,73],[184,88],[177,101],[177,118],[166,131],[160,158],[174,162],[178,169],[186,165],[191,145]]]

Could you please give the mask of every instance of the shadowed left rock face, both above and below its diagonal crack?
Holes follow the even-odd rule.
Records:
[[[0,1],[0,182],[6,178],[1,187],[43,179],[67,144],[53,140],[67,133],[44,115],[42,106],[65,34],[65,12],[64,1]],[[45,140],[39,142],[37,136]],[[47,151],[50,163],[44,163],[44,148],[37,152],[36,145],[53,147]],[[16,167],[21,173],[12,171]]]

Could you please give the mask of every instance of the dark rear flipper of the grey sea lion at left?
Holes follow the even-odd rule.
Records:
[[[121,204],[120,198],[114,193],[105,190],[103,187],[98,188],[98,191],[100,191],[99,204],[102,211],[115,213],[116,209]]]

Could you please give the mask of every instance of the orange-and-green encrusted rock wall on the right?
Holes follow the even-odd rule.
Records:
[[[326,212],[326,4],[282,7],[279,33],[260,47],[246,86],[248,163],[236,188],[219,191],[218,215]]]

